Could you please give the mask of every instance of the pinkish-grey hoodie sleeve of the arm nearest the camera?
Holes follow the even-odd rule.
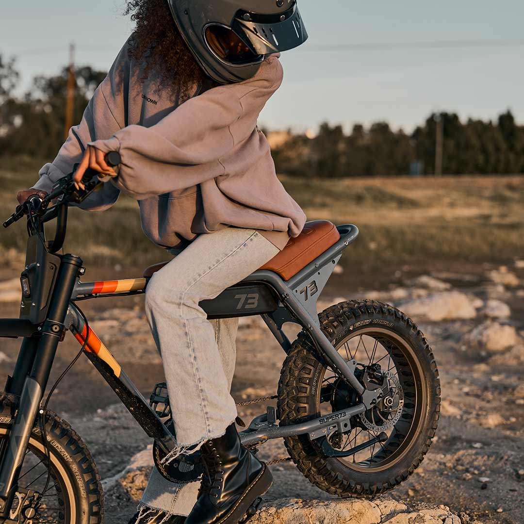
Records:
[[[137,200],[188,188],[224,174],[220,159],[256,132],[258,115],[281,82],[282,67],[271,56],[250,80],[195,96],[154,126],[128,126],[91,144],[120,152],[112,182]]]

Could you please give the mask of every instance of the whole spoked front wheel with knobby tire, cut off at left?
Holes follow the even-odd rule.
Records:
[[[9,396],[0,392],[2,453],[5,452],[13,411]],[[102,486],[89,450],[67,422],[48,411],[48,460],[39,422],[40,418],[29,438],[9,520],[30,521],[32,524],[102,524]]]

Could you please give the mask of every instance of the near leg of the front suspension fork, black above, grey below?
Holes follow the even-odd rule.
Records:
[[[41,328],[35,359],[21,390],[18,411],[9,431],[9,439],[0,464],[0,516],[8,517],[16,493],[18,474],[34,426],[43,393],[59,342],[64,334],[67,315],[82,259],[74,255],[61,257],[47,319]]]

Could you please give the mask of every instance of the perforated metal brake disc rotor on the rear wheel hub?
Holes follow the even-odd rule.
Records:
[[[397,376],[389,371],[384,373],[389,392],[371,409],[359,415],[361,423],[370,431],[387,431],[394,427],[402,415],[404,392]]]

